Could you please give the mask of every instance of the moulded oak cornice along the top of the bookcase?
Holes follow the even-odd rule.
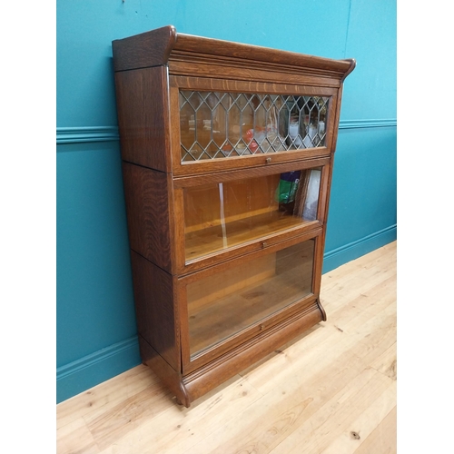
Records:
[[[340,85],[353,71],[354,59],[334,60],[281,51],[252,44],[177,33],[167,25],[140,35],[114,40],[114,71],[168,65],[170,74],[179,74],[179,64],[188,74],[191,64],[222,66],[317,76],[318,83]]]

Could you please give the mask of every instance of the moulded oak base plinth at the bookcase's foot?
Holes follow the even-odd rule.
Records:
[[[174,370],[139,336],[141,357],[143,363],[149,366],[173,392],[177,401],[189,407],[194,400],[324,320],[325,311],[320,301],[316,300],[303,311],[293,314],[285,321],[185,375],[180,370]]]

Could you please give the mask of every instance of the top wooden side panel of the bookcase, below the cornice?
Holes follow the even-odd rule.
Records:
[[[170,172],[167,68],[115,74],[123,161]]]

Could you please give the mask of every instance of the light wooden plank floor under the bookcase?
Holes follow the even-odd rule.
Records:
[[[396,242],[323,275],[321,322],[178,406],[138,366],[57,405],[57,452],[396,452]]]

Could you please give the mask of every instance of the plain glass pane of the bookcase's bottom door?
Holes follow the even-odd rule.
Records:
[[[191,356],[311,294],[313,254],[301,242],[188,284]]]

